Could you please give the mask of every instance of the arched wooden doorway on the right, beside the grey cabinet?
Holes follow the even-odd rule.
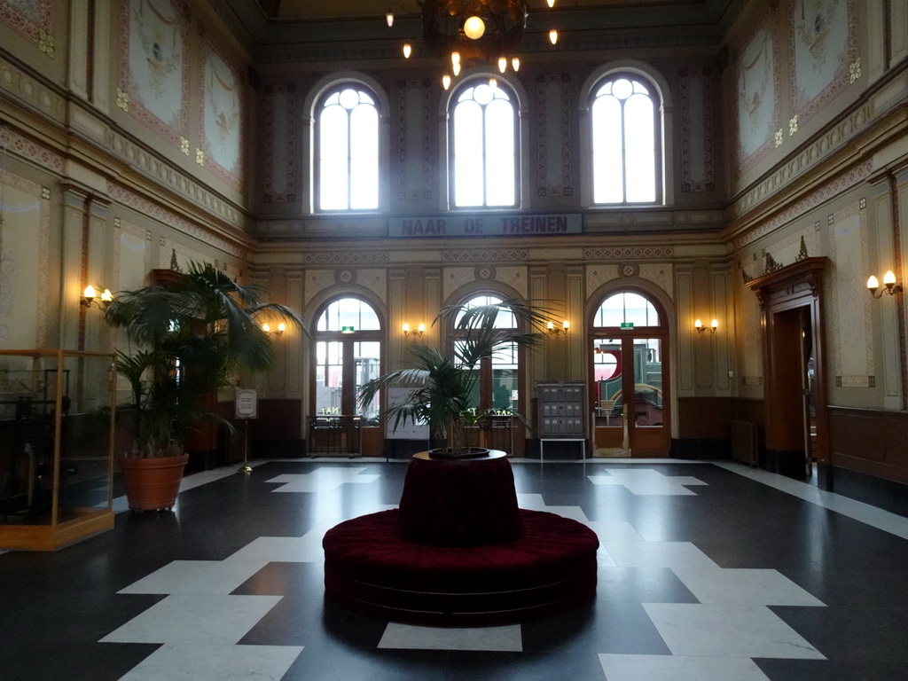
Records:
[[[589,324],[593,456],[667,457],[668,323],[641,291],[612,291]]]

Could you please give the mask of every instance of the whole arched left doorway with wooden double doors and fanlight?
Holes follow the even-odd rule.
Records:
[[[310,453],[380,452],[378,400],[357,402],[363,383],[381,371],[378,313],[360,298],[335,298],[321,306],[312,327]]]

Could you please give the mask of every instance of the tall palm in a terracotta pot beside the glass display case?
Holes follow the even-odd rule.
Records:
[[[151,286],[119,293],[104,310],[131,348],[116,352],[115,368],[130,386],[118,413],[131,440],[120,468],[133,510],[173,507],[188,460],[184,438],[204,419],[218,419],[212,396],[242,372],[273,365],[275,350],[258,318],[302,328],[295,311],[262,302],[259,287],[241,285],[211,264],[191,262],[185,273],[166,273]],[[142,498],[148,476],[158,479]]]

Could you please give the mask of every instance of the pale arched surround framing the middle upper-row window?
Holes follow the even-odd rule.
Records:
[[[514,134],[515,134],[515,197],[514,203],[508,206],[501,205],[481,205],[481,206],[458,206],[455,204],[454,188],[454,107],[458,104],[459,95],[467,88],[489,81],[489,78],[495,78],[498,87],[505,88],[514,107]],[[529,174],[527,169],[528,159],[528,131],[527,126],[523,124],[528,112],[528,95],[520,81],[509,72],[507,74],[492,73],[489,71],[473,68],[465,70],[459,79],[459,83],[452,86],[451,89],[441,97],[439,102],[439,117],[445,123],[446,135],[439,140],[439,153],[441,158],[448,159],[448,173],[446,176],[439,177],[439,209],[442,211],[484,211],[484,210],[501,210],[501,209],[519,209],[526,207],[526,193],[529,186]]]

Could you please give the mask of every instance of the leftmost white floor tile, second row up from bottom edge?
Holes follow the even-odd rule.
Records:
[[[168,596],[101,641],[235,644],[280,600],[280,596]]]

